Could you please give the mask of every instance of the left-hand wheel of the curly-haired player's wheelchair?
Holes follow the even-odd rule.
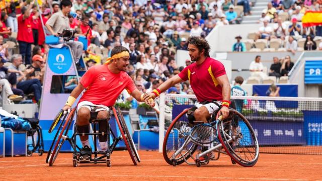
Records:
[[[187,160],[190,158],[190,153],[193,154],[198,147],[196,144],[190,142],[186,148],[181,151],[181,154],[178,154],[175,159],[172,158],[172,155],[177,152],[179,148],[183,146],[185,140],[189,138],[191,128],[188,126],[187,112],[188,109],[185,109],[173,120],[165,135],[162,152],[163,157],[170,165],[183,163],[185,159]]]

